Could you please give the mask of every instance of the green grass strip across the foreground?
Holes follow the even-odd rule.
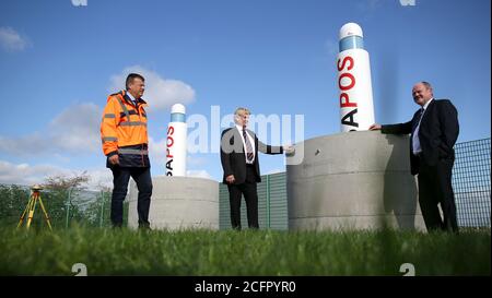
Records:
[[[1,275],[490,275],[490,229],[411,231],[133,231],[0,228]]]

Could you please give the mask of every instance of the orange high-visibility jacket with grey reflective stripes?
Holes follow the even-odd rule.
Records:
[[[149,166],[147,132],[147,103],[139,98],[137,105],[126,91],[107,98],[101,122],[103,152],[107,157],[119,155],[124,167]],[[109,163],[107,166],[110,167]]]

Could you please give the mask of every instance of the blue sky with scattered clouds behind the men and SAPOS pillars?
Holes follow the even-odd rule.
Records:
[[[221,117],[237,106],[265,116],[303,115],[304,139],[339,133],[335,62],[338,32],[348,22],[364,31],[377,122],[408,121],[418,108],[411,87],[424,80],[436,98],[457,107],[458,142],[490,138],[490,1],[414,3],[89,0],[75,7],[71,0],[3,0],[0,182],[87,170],[93,184],[107,184],[102,109],[128,71],[148,78],[154,176],[164,174],[176,102],[204,117],[211,106]],[[284,169],[283,157],[260,160],[262,174]],[[189,154],[188,170],[221,179],[219,154]]]

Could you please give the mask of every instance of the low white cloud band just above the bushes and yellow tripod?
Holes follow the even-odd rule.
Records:
[[[71,170],[52,165],[14,165],[5,160],[0,160],[0,183],[4,184],[32,186],[35,183],[44,183],[48,177],[73,177],[82,172],[82,170]],[[90,169],[86,174],[90,177],[86,184],[87,189],[98,190],[101,187],[113,188],[113,176],[108,169]]]

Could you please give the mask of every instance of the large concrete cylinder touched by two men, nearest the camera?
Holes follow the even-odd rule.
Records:
[[[425,230],[408,138],[353,131],[296,144],[286,166],[289,229]]]

